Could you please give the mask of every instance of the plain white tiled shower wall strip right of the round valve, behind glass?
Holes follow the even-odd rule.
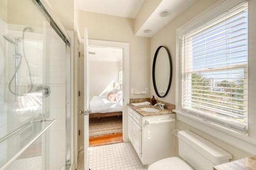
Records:
[[[66,44],[52,29],[47,64],[50,70],[50,117],[56,119],[49,132],[48,166],[55,170],[66,165]]]

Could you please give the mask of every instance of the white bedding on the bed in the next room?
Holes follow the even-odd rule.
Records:
[[[111,102],[106,96],[93,96],[90,101],[91,113],[119,112],[123,110],[122,100]]]

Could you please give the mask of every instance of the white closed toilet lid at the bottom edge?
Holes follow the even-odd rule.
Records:
[[[148,170],[194,170],[178,157],[162,159],[150,165]]]

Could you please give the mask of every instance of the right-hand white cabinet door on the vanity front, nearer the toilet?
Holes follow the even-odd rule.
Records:
[[[141,157],[141,128],[136,122],[133,122],[133,147]]]

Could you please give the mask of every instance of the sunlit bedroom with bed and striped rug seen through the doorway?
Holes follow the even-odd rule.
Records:
[[[89,144],[122,142],[122,49],[89,46],[88,69]]]

